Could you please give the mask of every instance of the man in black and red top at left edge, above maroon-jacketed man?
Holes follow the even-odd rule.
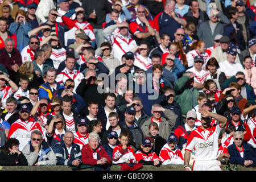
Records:
[[[5,40],[7,38],[12,38],[14,40],[14,48],[16,48],[17,46],[17,36],[15,34],[12,34],[10,31],[7,30],[8,28],[8,20],[7,18],[5,17],[0,17],[0,25],[1,25],[1,28],[0,28],[0,32],[1,32],[1,35],[0,35],[0,48],[4,48],[5,47]]]

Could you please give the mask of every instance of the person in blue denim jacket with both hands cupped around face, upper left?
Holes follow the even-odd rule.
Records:
[[[18,10],[17,15],[15,16],[15,22],[10,24],[9,30],[17,35],[17,49],[22,51],[29,41],[28,32],[32,30],[31,24],[28,23],[25,11]]]

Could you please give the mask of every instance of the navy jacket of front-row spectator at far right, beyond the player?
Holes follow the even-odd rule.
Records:
[[[236,144],[232,144],[228,147],[229,155],[230,155],[230,163],[234,164],[237,163],[241,166],[243,166],[245,160],[253,160],[253,164],[251,167],[256,166],[256,154],[253,150],[253,147],[251,147],[247,143],[243,143],[243,158],[241,158],[240,152],[237,150]]]

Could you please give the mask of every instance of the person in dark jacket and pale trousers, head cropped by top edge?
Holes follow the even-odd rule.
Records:
[[[95,1],[93,3],[90,0],[84,0],[81,7],[85,10],[85,19],[92,24],[96,46],[100,47],[101,43],[104,42],[101,26],[105,22],[106,14],[110,13],[112,7],[107,0]]]

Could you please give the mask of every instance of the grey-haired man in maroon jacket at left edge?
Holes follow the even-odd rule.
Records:
[[[0,23],[1,22],[2,21],[0,20]],[[5,47],[0,49],[0,63],[5,66],[13,80],[20,65],[22,65],[22,56],[14,46],[14,40],[12,38],[7,38],[5,39]]]

